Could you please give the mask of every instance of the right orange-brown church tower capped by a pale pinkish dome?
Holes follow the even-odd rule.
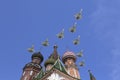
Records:
[[[76,55],[71,51],[67,51],[62,57],[62,61],[67,69],[67,73],[72,77],[80,79],[80,74],[75,63]]]

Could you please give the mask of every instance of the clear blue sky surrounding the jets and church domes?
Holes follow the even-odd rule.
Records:
[[[76,20],[75,13],[83,9],[77,21],[77,32],[68,31]],[[65,29],[65,38],[56,34]],[[80,35],[80,44],[72,40]],[[50,46],[43,47],[46,38]],[[58,45],[66,49],[84,49],[86,66],[80,67],[82,80],[89,80],[91,69],[97,80],[120,80],[120,0],[0,0],[0,79],[19,80],[24,65],[31,61],[27,48],[35,45],[46,59]],[[43,63],[42,63],[43,65]]]

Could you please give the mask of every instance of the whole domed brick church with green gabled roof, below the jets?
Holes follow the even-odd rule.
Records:
[[[20,80],[80,80],[80,73],[76,66],[76,55],[72,51],[66,51],[60,59],[57,46],[53,53],[41,66],[43,56],[36,52],[31,57],[31,62],[23,68]]]

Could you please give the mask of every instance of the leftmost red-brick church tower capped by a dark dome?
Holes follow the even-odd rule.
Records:
[[[22,77],[20,80],[33,80],[33,77],[42,69],[41,63],[43,56],[40,52],[36,52],[31,56],[32,61],[27,63],[23,68]]]

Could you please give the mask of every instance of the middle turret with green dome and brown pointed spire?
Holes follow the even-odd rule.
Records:
[[[57,46],[54,46],[54,51],[53,53],[49,56],[49,58],[45,61],[45,69],[46,71],[49,71],[52,66],[54,65],[55,61],[59,58],[59,55],[57,53]]]

